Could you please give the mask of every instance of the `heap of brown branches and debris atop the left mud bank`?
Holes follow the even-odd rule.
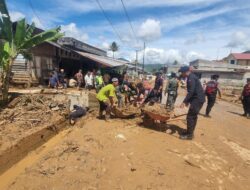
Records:
[[[69,102],[56,101],[53,96],[21,95],[12,100],[1,112],[0,125],[7,123],[18,123],[21,126],[45,124],[55,118],[66,116],[68,112]]]

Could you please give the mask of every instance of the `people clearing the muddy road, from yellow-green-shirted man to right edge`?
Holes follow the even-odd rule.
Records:
[[[202,85],[200,79],[192,72],[189,66],[183,66],[179,69],[179,78],[186,80],[187,94],[184,98],[181,108],[188,107],[187,114],[187,130],[180,135],[180,139],[191,140],[194,137],[194,131],[198,120],[198,114],[203,107],[207,97],[206,117],[211,117],[210,112],[216,102],[217,94],[221,97],[219,89],[218,75],[212,75],[211,80]],[[175,73],[171,73],[170,79],[165,88],[167,95],[166,109],[172,111],[178,95],[178,87],[180,80]],[[99,117],[104,119],[110,118],[112,107],[115,105],[115,100],[118,100],[118,106],[123,104],[133,103],[135,105],[144,105],[147,103],[157,103],[162,101],[163,94],[163,77],[158,73],[155,79],[154,87],[148,85],[148,81],[143,79],[137,84],[130,82],[128,76],[124,75],[123,80],[117,78],[112,79],[112,83],[105,85],[97,94],[97,99],[100,104]],[[123,100],[124,99],[124,100]],[[244,108],[244,116],[250,118],[250,78],[247,79],[247,84],[244,86],[241,100]],[[106,114],[104,115],[104,111]]]

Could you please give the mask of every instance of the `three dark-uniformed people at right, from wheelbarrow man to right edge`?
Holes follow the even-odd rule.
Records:
[[[181,104],[181,107],[189,106],[187,114],[187,131],[180,136],[183,140],[191,140],[194,137],[194,130],[197,124],[198,114],[205,103],[207,97],[206,117],[211,117],[210,112],[215,104],[217,94],[221,97],[219,89],[218,75],[212,75],[211,80],[202,86],[199,78],[192,73],[192,69],[188,66],[181,67],[179,72],[181,76],[187,79],[187,95]],[[240,99],[243,103],[244,114],[250,119],[250,78],[244,86]]]

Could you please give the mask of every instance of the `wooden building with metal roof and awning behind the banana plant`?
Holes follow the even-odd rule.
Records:
[[[43,30],[36,28],[34,34]],[[67,78],[71,78],[82,69],[87,71],[104,68],[125,67],[127,62],[107,57],[107,52],[74,38],[63,37],[57,42],[44,42],[31,49],[32,60],[18,56],[12,67],[12,83],[47,84],[49,74],[64,69]]]

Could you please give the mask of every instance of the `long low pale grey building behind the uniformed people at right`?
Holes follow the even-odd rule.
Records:
[[[246,79],[250,77],[250,68],[248,66],[231,64],[230,61],[197,59],[190,62],[190,66],[194,67],[194,72],[199,76],[202,82],[209,81],[211,75],[219,75],[222,86],[242,87]]]

